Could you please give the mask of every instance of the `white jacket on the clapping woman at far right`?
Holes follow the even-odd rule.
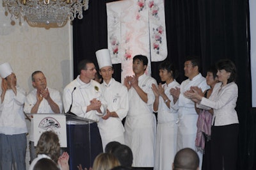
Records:
[[[238,87],[235,82],[230,82],[221,87],[222,82],[215,84],[211,98],[202,98],[200,105],[205,105],[214,110],[212,125],[223,126],[239,123],[235,110],[238,97]],[[215,121],[214,121],[215,120]]]

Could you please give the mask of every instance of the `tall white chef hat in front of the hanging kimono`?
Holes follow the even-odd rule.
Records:
[[[112,66],[109,49],[101,49],[95,52],[99,68]]]

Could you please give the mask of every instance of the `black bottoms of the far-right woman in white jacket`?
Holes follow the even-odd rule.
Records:
[[[212,170],[236,170],[238,131],[238,124],[212,126]]]

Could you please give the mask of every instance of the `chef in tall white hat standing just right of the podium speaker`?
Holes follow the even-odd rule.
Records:
[[[102,95],[107,102],[107,114],[98,122],[103,150],[111,141],[124,144],[124,125],[122,120],[129,109],[127,88],[112,78],[114,73],[108,49],[97,50],[96,57],[103,82]]]

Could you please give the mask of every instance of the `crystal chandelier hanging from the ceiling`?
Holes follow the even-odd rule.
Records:
[[[38,23],[64,26],[67,20],[83,19],[83,10],[88,10],[89,0],[3,0],[5,12],[11,14],[11,20],[24,17],[36,26]]]

